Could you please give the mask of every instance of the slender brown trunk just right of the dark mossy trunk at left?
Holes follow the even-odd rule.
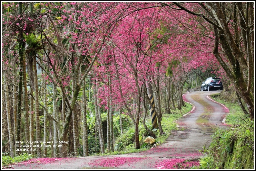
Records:
[[[23,58],[23,86],[24,86],[24,116],[25,116],[25,140],[30,140],[29,136],[29,122],[28,122],[28,96],[27,96],[27,78],[26,78],[26,61]],[[30,153],[30,151],[28,152]]]

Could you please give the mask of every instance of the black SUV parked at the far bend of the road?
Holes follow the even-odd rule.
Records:
[[[201,85],[201,91],[204,90],[223,90],[221,79],[217,77],[207,78]]]

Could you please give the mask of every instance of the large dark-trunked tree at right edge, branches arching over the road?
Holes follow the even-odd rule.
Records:
[[[160,3],[173,9],[172,3]],[[247,104],[251,119],[254,118],[254,97],[252,95],[252,73],[254,73],[254,13],[251,3],[242,2],[206,2],[196,4],[173,3],[179,10],[204,19],[212,25],[214,31],[213,54],[227,73],[238,95]],[[235,10],[233,10],[235,9]],[[249,10],[250,9],[250,10]],[[237,12],[236,15],[234,15]],[[238,16],[238,17],[237,17]],[[238,18],[239,28],[232,27],[231,19]],[[199,21],[199,22],[202,22]],[[235,30],[234,30],[235,29]],[[211,34],[211,33],[210,33]],[[237,39],[239,36],[239,39]],[[236,43],[236,40],[242,40]],[[240,46],[240,44],[243,44]],[[220,48],[221,46],[221,48]],[[223,51],[224,55],[220,52]],[[227,58],[228,60],[225,60]]]

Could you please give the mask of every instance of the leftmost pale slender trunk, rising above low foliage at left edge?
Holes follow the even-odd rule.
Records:
[[[5,83],[6,84],[6,83]],[[10,115],[10,97],[9,97],[8,85],[5,85],[5,103],[6,103],[6,115],[7,115],[7,125],[8,125],[8,133],[9,133],[9,145],[10,145],[10,155],[14,157],[13,151],[13,131],[12,131],[12,122]],[[20,146],[19,146],[20,147]]]

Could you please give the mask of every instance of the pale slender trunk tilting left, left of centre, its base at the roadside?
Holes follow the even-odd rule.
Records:
[[[103,140],[103,132],[102,132],[102,125],[101,125],[101,116],[100,111],[98,111],[98,100],[97,100],[97,82],[95,80],[95,86],[94,86],[94,106],[95,106],[95,116],[97,119],[97,125],[98,125],[98,134],[99,134],[99,141],[100,141],[100,147],[102,154],[105,153],[104,150],[104,140]]]

